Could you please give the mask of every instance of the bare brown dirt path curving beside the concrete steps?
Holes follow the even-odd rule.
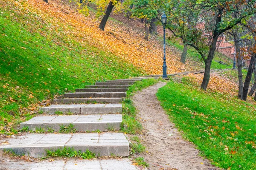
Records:
[[[169,121],[157,101],[157,89],[166,83],[160,82],[133,96],[138,117],[144,128],[140,135],[148,153],[140,156],[150,164],[149,170],[218,170],[208,160],[198,156],[195,145],[185,141]]]

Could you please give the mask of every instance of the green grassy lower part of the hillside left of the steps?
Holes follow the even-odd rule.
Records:
[[[35,116],[39,101],[96,81],[143,73],[114,54],[57,34],[50,29],[51,23],[41,22],[35,13],[24,18],[7,4],[1,12],[0,127],[5,128],[0,133],[10,132],[12,123]]]

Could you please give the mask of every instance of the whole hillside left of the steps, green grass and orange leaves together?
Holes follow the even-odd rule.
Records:
[[[98,25],[61,0],[0,1],[0,125],[29,119],[44,100],[95,81],[161,74],[159,37],[145,41],[141,26],[128,31],[114,20],[106,31]],[[168,73],[196,69],[177,51],[167,46]]]

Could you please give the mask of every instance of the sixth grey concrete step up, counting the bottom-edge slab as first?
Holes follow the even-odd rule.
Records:
[[[63,95],[64,98],[100,98],[100,97],[126,97],[125,92],[76,92],[66,93]],[[61,97],[62,98],[62,97]]]

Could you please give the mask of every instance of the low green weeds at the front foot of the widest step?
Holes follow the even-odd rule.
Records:
[[[46,150],[47,157],[78,157],[82,159],[93,159],[95,158],[95,153],[90,152],[88,149],[85,152],[81,152],[81,150],[76,151],[74,148],[64,147],[62,149],[57,149],[55,151]]]

